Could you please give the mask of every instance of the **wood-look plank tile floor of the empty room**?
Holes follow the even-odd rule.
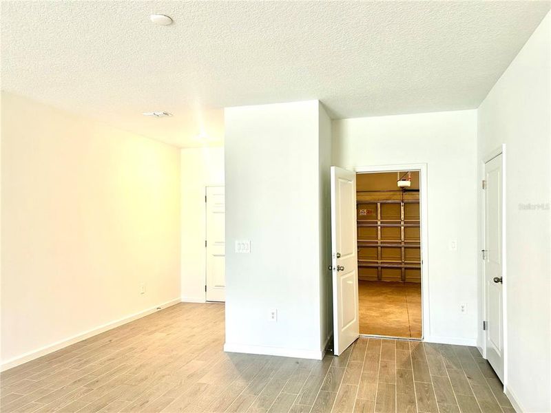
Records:
[[[178,304],[0,376],[1,412],[514,412],[476,348],[358,339],[322,361],[222,352],[224,306]]]

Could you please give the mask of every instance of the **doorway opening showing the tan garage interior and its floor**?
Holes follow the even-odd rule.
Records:
[[[360,335],[423,337],[419,175],[356,174]]]

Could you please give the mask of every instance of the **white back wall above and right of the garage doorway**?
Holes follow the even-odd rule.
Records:
[[[476,128],[474,110],[333,120],[334,165],[427,165],[428,341],[477,339]]]

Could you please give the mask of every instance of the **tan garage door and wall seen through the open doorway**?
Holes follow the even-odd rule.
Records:
[[[421,282],[419,172],[357,174],[358,275],[365,281]]]

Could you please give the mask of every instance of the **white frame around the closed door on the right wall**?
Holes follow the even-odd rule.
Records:
[[[501,299],[501,305],[503,308],[501,309],[501,314],[503,314],[503,392],[507,389],[507,383],[508,383],[508,374],[507,374],[507,231],[506,231],[506,154],[505,154],[505,144],[503,143],[501,146],[497,147],[493,151],[490,151],[486,153],[486,156],[482,158],[481,160],[481,176],[482,179],[484,179],[484,171],[486,168],[486,163],[492,160],[493,158],[501,155],[501,253],[503,255],[501,260],[501,277],[503,277],[503,290],[502,294],[503,297]],[[480,184],[479,191],[481,191],[481,227],[479,229],[479,233],[481,236],[481,247],[484,248],[486,244],[486,231],[484,229],[486,228],[486,214],[485,214],[485,208],[486,208],[486,193],[484,189],[482,189],[482,186]],[[482,255],[479,255],[479,268],[481,268],[481,279],[482,279],[482,302],[479,303],[479,305],[482,306],[482,320],[486,320],[486,266],[484,266],[484,262],[482,261]],[[482,321],[480,320],[480,321]],[[477,328],[479,332],[482,333],[484,336],[482,338],[482,357],[486,359],[486,332],[481,329],[481,323],[479,327]]]

